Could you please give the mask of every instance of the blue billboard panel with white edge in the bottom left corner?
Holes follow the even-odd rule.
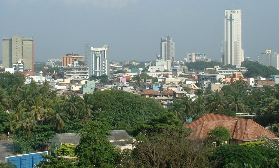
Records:
[[[38,162],[45,160],[41,154],[48,155],[48,151],[6,157],[6,163],[13,163],[17,168],[33,168]]]

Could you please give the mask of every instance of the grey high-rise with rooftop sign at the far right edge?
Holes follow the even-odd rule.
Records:
[[[279,70],[279,54],[277,52],[272,52],[272,50],[266,50],[265,53],[260,53],[258,56],[258,61],[260,64],[265,66],[273,66]]]

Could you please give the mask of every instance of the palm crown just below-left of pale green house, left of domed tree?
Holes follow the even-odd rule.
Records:
[[[82,98],[77,94],[71,94],[65,103],[65,107],[68,108],[68,115],[73,119],[73,116],[78,116],[81,111]]]

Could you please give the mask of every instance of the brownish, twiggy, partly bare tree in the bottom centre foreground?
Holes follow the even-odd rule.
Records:
[[[172,129],[160,133],[143,134],[135,143],[135,149],[122,152],[122,168],[212,167],[210,146],[205,141],[190,141],[187,134]]]

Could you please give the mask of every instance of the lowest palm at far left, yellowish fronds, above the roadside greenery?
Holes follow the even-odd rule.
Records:
[[[18,121],[16,129],[22,128],[28,134],[32,129],[36,127],[36,124],[37,123],[35,117],[30,112],[26,112],[23,113],[22,119]]]

